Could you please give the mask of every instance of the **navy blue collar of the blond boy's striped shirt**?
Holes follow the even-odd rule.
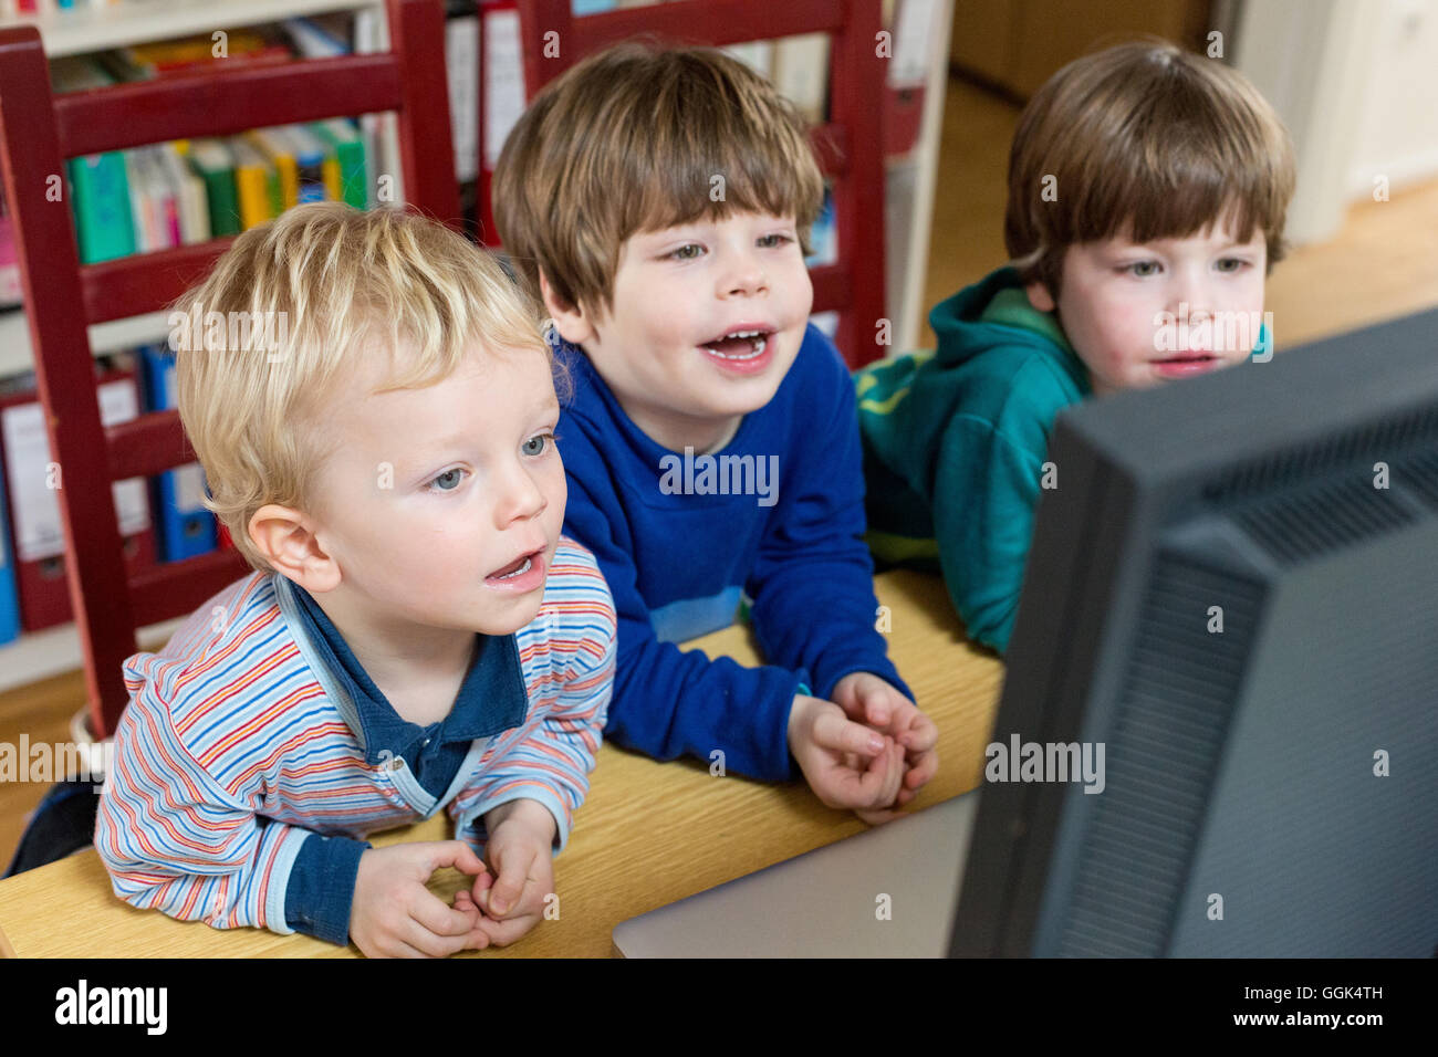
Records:
[[[525,690],[515,636],[475,636],[475,657],[450,713],[424,728],[403,719],[394,710],[309,591],[293,581],[290,587],[311,641],[329,673],[355,703],[361,726],[355,733],[364,742],[365,762],[370,767],[380,764],[385,752],[390,756],[404,756],[416,742],[426,738],[439,739],[441,745],[472,742],[523,723],[529,712],[529,695]]]

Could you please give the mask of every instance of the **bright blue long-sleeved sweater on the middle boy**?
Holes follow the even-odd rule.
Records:
[[[820,331],[712,456],[657,444],[582,351],[561,342],[557,355],[574,383],[558,430],[565,534],[594,552],[618,616],[605,736],[659,759],[720,749],[726,771],[778,781],[794,774],[801,686],[827,697],[871,672],[913,696],[874,630],[854,390]],[[679,649],[732,624],[742,594],[768,666]]]

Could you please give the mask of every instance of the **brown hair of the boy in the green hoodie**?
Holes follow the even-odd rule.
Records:
[[[1225,214],[1240,240],[1263,230],[1273,267],[1293,184],[1288,134],[1247,78],[1136,40],[1068,63],[1024,109],[1004,240],[1021,279],[1055,298],[1071,244],[1182,239]]]

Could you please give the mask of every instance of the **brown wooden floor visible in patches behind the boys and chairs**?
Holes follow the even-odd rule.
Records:
[[[940,193],[925,303],[933,305],[1005,259],[1002,217],[1008,144],[1018,108],[962,82],[949,86]],[[1438,305],[1438,183],[1355,206],[1339,236],[1304,246],[1274,269],[1268,309],[1278,348]],[[928,309],[926,309],[928,312]],[[925,324],[922,344],[933,344]],[[68,738],[83,700],[79,673],[0,695],[0,742]],[[43,785],[0,782],[0,869],[9,864]]]

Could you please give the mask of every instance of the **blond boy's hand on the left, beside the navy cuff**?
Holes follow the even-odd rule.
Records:
[[[446,958],[489,946],[476,910],[450,909],[424,887],[441,866],[486,876],[479,856],[462,840],[365,848],[349,906],[349,939],[365,956]]]

